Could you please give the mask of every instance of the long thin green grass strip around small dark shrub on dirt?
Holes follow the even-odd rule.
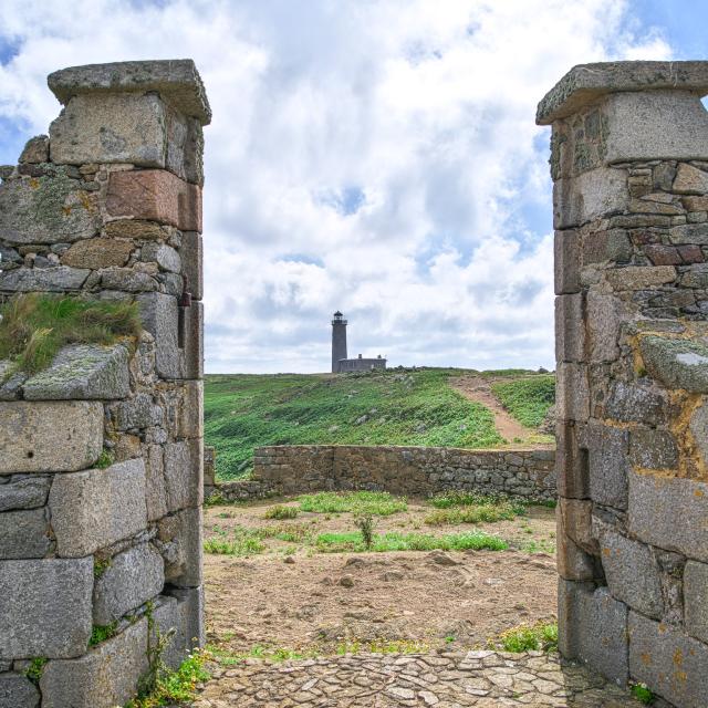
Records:
[[[448,533],[446,535],[433,535],[429,533],[399,533],[391,531],[374,535],[371,549],[367,549],[362,534],[356,531],[346,533],[320,533],[315,539],[315,545],[323,553],[363,553],[367,550],[384,551],[504,551],[509,544],[502,539],[482,531],[469,531],[465,533]]]

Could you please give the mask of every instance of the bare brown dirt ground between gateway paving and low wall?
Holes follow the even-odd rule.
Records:
[[[269,506],[209,508],[205,537],[238,527],[315,534],[354,530],[351,513],[300,512],[277,521],[263,518]],[[525,516],[497,523],[435,527],[423,522],[430,511],[425,502],[409,502],[406,512],[377,518],[376,532],[483,530],[511,548],[322,553],[308,543],[266,539],[266,551],[257,555],[206,554],[209,642],[239,653],[256,646],[366,650],[372,642],[462,648],[485,645],[520,623],[554,617],[553,509],[530,507]]]

